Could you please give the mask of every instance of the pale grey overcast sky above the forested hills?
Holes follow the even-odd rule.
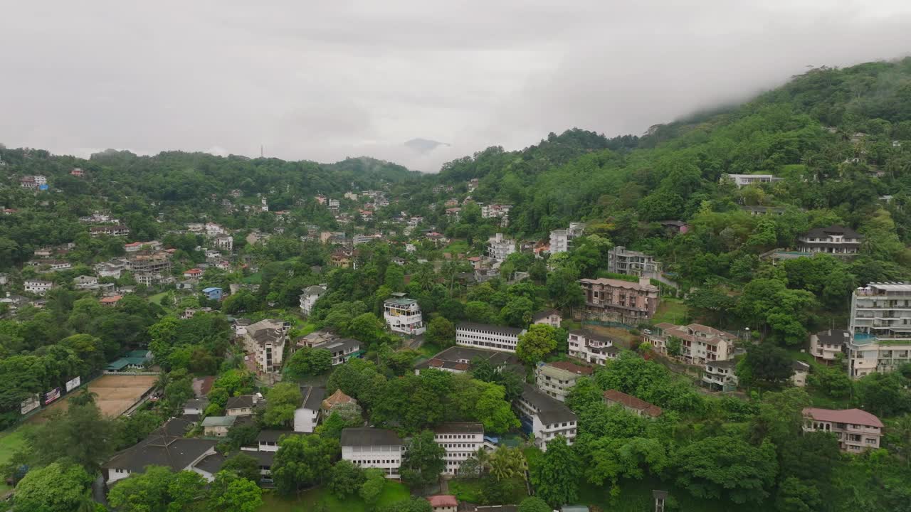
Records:
[[[911,50],[908,0],[7,0],[0,142],[435,172]],[[419,154],[411,138],[447,142]]]

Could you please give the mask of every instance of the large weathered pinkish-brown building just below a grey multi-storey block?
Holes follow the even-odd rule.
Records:
[[[639,282],[619,279],[580,279],[588,315],[607,322],[638,325],[647,322],[658,309],[658,287],[648,278]]]

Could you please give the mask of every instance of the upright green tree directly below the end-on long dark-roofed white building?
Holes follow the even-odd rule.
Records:
[[[576,501],[581,476],[578,456],[562,435],[548,441],[548,451],[531,467],[531,482],[537,489],[537,496],[552,507]]]

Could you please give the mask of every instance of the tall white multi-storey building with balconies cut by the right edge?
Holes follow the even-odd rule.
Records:
[[[911,283],[870,282],[851,297],[848,368],[852,377],[911,363]]]

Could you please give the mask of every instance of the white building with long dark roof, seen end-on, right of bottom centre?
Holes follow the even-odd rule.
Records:
[[[548,443],[558,435],[572,445],[576,439],[576,415],[556,398],[537,391],[531,384],[522,384],[522,394],[516,399],[516,409],[522,429],[535,436],[535,445],[548,450]]]

